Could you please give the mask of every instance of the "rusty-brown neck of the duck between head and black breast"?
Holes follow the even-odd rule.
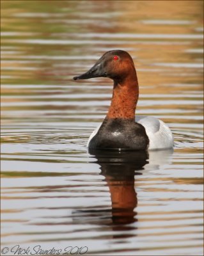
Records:
[[[139,87],[136,72],[122,80],[114,80],[113,97],[106,118],[135,119]]]

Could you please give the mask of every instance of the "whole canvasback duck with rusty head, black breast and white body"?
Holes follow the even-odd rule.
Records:
[[[113,97],[104,122],[91,134],[88,148],[159,150],[173,147],[168,125],[153,116],[135,116],[139,86],[136,68],[128,52],[106,52],[77,79],[113,79]]]

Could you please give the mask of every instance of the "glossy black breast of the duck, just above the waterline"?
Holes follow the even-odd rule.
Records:
[[[105,119],[97,134],[91,139],[89,148],[120,148],[146,150],[148,136],[145,128],[134,120]]]

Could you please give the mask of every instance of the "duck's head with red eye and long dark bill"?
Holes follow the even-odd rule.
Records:
[[[122,81],[131,72],[136,74],[130,54],[122,50],[114,50],[106,52],[90,70],[80,76],[75,76],[73,79],[109,77],[114,81]]]

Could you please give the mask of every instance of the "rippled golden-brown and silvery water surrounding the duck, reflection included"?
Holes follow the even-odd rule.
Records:
[[[2,254],[203,255],[202,10],[1,1]],[[87,151],[112,81],[72,77],[111,49],[134,58],[136,113],[169,124],[174,152]]]

